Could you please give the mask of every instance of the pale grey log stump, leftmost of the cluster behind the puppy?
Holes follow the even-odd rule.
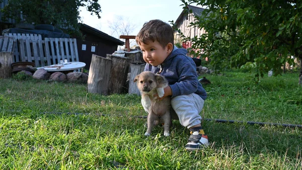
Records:
[[[109,76],[111,72],[112,60],[101,56],[92,55],[88,76],[88,92],[108,94]]]

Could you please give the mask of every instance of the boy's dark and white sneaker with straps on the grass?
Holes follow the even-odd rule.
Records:
[[[185,148],[188,151],[199,150],[203,147],[208,146],[208,137],[207,135],[203,135],[199,133],[199,130],[193,131],[192,135],[190,135],[188,139],[188,143],[185,145]]]

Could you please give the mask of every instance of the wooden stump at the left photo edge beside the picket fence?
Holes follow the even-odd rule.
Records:
[[[0,52],[0,78],[12,77],[13,52]]]

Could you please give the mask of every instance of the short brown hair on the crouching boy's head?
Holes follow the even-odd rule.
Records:
[[[172,27],[161,20],[150,20],[143,24],[135,37],[136,43],[148,44],[148,41],[158,41],[165,47],[169,42],[174,45],[174,34]]]

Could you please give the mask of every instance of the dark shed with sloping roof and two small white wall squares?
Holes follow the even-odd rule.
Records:
[[[86,24],[81,24],[80,31],[84,40],[77,39],[79,61],[86,63],[87,70],[93,54],[106,58],[106,54],[112,54],[118,45],[124,45],[123,41]]]

